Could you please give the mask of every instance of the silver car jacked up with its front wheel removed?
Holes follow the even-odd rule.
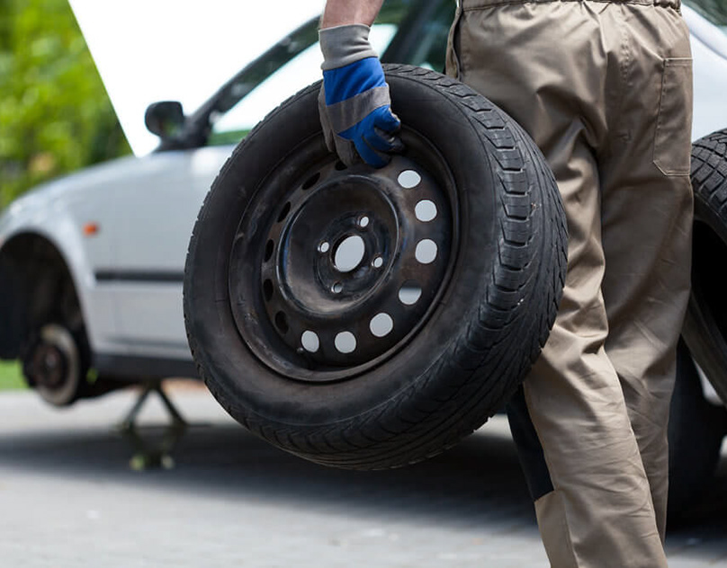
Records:
[[[453,9],[452,0],[386,2],[372,31],[382,60],[442,70]],[[683,12],[696,139],[727,128],[727,4],[688,0]],[[160,137],[150,155],[49,182],[4,210],[0,359],[22,359],[50,404],[145,378],[196,376],[182,313],[194,220],[233,146],[263,118],[258,103],[292,94],[281,92],[281,77],[303,86],[319,75],[317,28],[317,18],[302,23],[190,114],[178,102],[150,105],[146,123]],[[700,400],[704,389],[723,404],[704,374],[701,384]],[[687,439],[689,421],[674,421]]]

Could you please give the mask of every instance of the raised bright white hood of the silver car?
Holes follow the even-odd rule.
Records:
[[[159,140],[144,126],[150,102],[194,111],[231,75],[302,22],[325,0],[69,0],[135,155]]]

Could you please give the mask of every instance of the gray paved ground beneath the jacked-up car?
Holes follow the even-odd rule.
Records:
[[[0,568],[547,566],[501,417],[424,464],[346,472],[254,438],[202,387],[171,391],[190,427],[174,467],[142,471],[139,440],[116,429],[133,392],[64,411],[0,395]],[[152,450],[174,442],[164,418],[150,398]],[[727,567],[727,448],[668,553]]]

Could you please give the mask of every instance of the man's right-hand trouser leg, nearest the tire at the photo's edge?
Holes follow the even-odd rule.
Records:
[[[621,5],[603,17],[628,32],[633,58],[602,171],[609,333],[663,540],[667,426],[690,285],[692,75],[687,26],[674,8]]]

